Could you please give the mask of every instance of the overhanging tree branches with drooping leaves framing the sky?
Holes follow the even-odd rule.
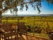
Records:
[[[43,0],[28,0],[28,2],[25,2],[25,0],[0,0],[0,23],[1,23],[2,13],[8,9],[10,10],[11,13],[13,12],[17,13],[18,11],[17,6],[20,6],[20,10],[22,11],[25,5],[27,11],[28,4],[31,4],[31,6],[34,9],[37,8],[38,13],[40,13],[41,12],[40,7],[42,1]],[[49,3],[53,3],[53,0],[46,0],[46,1]],[[33,5],[35,2],[37,2],[37,4]]]

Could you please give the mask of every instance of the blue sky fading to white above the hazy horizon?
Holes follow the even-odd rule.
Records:
[[[37,8],[34,10],[33,9],[33,7],[31,6],[31,5],[29,5],[28,7],[29,7],[29,9],[26,11],[25,10],[25,7],[24,7],[24,9],[23,9],[23,11],[20,11],[19,9],[19,11],[17,12],[17,14],[16,13],[10,13],[10,11],[8,10],[7,12],[5,12],[5,13],[3,13],[2,15],[4,16],[4,15],[18,15],[18,16],[20,16],[20,15],[22,15],[22,16],[26,16],[26,15],[41,15],[41,14],[53,14],[53,4],[51,5],[51,4],[48,4],[46,1],[43,1],[43,2],[41,2],[42,3],[42,7],[40,8],[40,10],[41,10],[41,13],[39,13],[38,14],[38,10],[37,10]],[[18,8],[20,8],[20,6],[18,6]]]

